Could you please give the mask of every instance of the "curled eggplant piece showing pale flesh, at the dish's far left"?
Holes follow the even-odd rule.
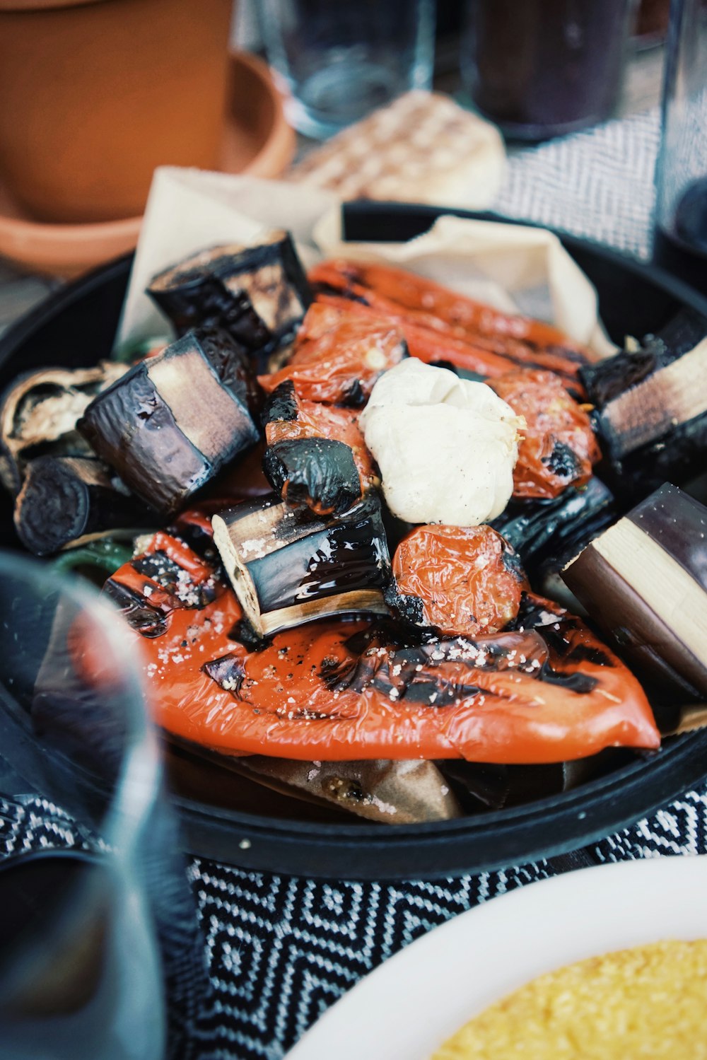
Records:
[[[49,368],[16,379],[0,405],[3,485],[17,493],[25,464],[34,457],[92,456],[76,421],[95,394],[125,371],[124,365],[101,361],[95,368]]]

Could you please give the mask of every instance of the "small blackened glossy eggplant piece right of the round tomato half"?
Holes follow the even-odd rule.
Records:
[[[593,477],[583,490],[569,488],[553,500],[511,500],[491,524],[534,575],[562,566],[616,518],[611,490]]]

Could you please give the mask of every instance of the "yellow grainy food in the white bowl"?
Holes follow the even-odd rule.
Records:
[[[432,1060],[705,1060],[707,939],[656,942],[542,975]]]

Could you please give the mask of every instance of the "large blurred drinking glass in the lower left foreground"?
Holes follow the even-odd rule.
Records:
[[[189,1055],[204,951],[138,651],[88,583],[0,553],[0,1052],[13,1060]]]

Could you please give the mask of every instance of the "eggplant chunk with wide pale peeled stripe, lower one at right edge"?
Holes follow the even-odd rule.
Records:
[[[683,702],[707,695],[707,508],[664,485],[562,578],[637,672]]]

